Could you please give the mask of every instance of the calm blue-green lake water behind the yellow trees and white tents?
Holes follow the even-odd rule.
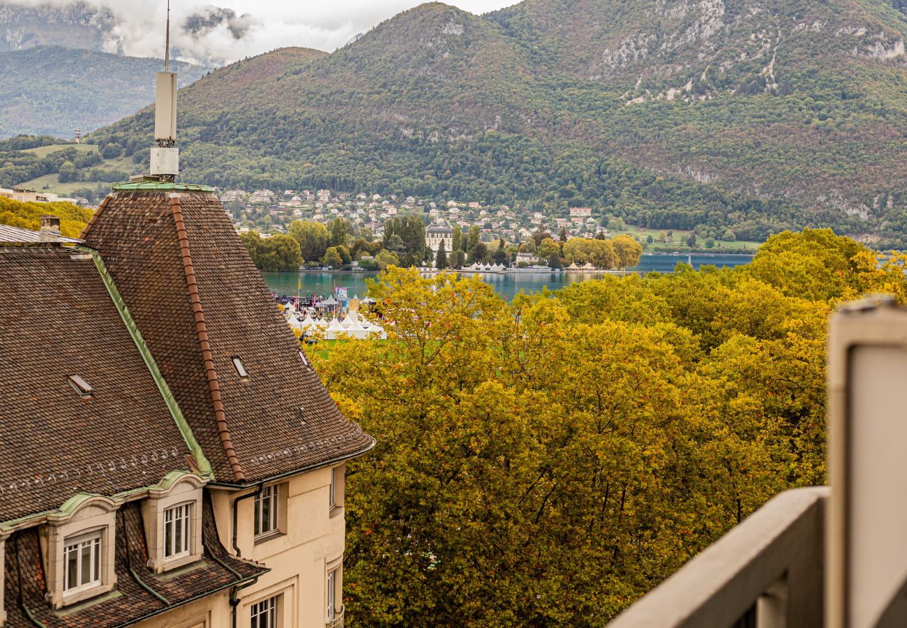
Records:
[[[752,260],[750,255],[693,255],[690,258],[693,268],[701,266],[739,266]],[[637,272],[671,272],[678,262],[686,262],[686,255],[643,255],[639,266],[630,269]],[[271,291],[278,294],[296,294],[297,277],[302,280],[300,294],[330,294],[335,286],[349,289],[349,296],[365,296],[366,280],[375,278],[374,272],[263,272],[265,282]],[[597,279],[603,276],[600,272],[540,272],[540,273],[506,273],[486,274],[483,279],[506,298],[519,292],[531,294],[547,287],[551,290],[563,288],[577,281]]]

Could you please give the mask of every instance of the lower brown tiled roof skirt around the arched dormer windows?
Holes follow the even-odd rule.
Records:
[[[268,571],[258,564],[231,556],[223,545],[220,545],[214,514],[207,496],[202,507],[201,531],[205,554],[198,564],[172,574],[161,575],[153,574],[151,569],[145,566],[148,547],[145,545],[141,506],[137,502],[122,505],[117,511],[114,538],[117,595],[88,604],[81,610],[60,614],[54,613],[44,599],[44,594],[47,593],[47,577],[44,573],[38,529],[28,528],[11,535],[6,540],[5,546],[4,600],[8,614],[6,628],[34,628],[35,625],[42,624],[47,628],[83,626],[112,628],[152,613],[165,613],[200,595],[225,589]],[[231,573],[220,563],[229,565],[229,568],[239,576]],[[138,579],[130,572],[131,567]],[[168,603],[163,603],[145,590],[140,581]],[[35,624],[28,618],[26,608],[41,624]]]

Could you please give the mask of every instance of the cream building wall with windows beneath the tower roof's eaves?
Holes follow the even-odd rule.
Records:
[[[253,538],[254,498],[238,504],[238,545],[244,558],[264,563],[271,570],[259,578],[258,583],[243,589],[240,594],[238,626],[249,625],[249,606],[276,594],[282,594],[283,617],[281,628],[323,628],[327,604],[326,565],[342,559],[346,527],[344,523],[344,471],[336,467],[336,503],[329,507],[330,468],[317,469],[288,478],[281,485],[286,501],[286,518],[281,534],[255,542]],[[221,543],[233,552],[232,503],[241,495],[254,493],[254,489],[235,492],[211,489],[214,515],[218,522]],[[339,574],[338,582],[343,576]],[[342,603],[342,590],[338,587],[338,607]],[[339,611],[339,608],[338,608]]]

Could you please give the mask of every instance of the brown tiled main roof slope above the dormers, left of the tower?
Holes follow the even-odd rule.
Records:
[[[0,249],[0,280],[0,521],[190,470],[92,258],[54,246]],[[71,376],[93,398],[81,398]]]

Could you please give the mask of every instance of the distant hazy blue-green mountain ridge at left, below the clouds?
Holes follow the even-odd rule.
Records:
[[[163,61],[38,46],[0,54],[0,137],[20,133],[71,138],[154,102],[154,73]],[[207,72],[175,63],[180,84]],[[115,97],[106,94],[115,93]]]

